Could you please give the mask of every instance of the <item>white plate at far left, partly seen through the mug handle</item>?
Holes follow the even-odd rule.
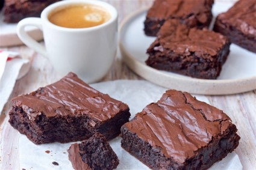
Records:
[[[2,11],[0,13],[0,47],[17,46],[23,44],[16,34],[17,23],[5,23]],[[27,26],[25,31],[37,41],[43,40],[43,33],[39,28]]]

